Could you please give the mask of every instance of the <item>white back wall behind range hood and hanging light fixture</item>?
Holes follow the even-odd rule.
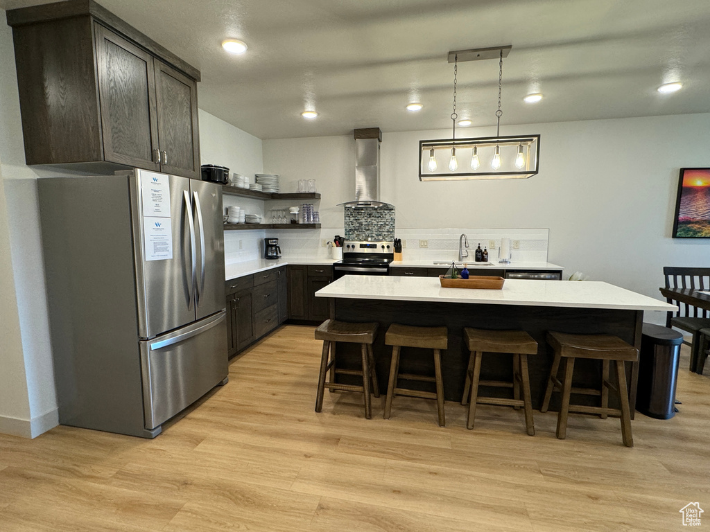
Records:
[[[464,136],[464,130],[459,135]],[[465,136],[495,135],[471,128]],[[665,265],[710,265],[709,240],[670,238],[680,167],[710,166],[710,114],[506,126],[540,133],[540,173],[530,179],[420,182],[418,142],[451,131],[383,133],[381,199],[397,228],[550,228],[548,259],[567,274],[660,298]],[[354,196],[354,140],[264,140],[264,167],[285,181],[315,177],[321,212]],[[660,316],[647,316],[662,321]]]

